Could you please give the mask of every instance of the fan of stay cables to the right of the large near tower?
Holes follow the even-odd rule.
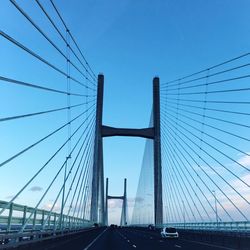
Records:
[[[161,84],[164,223],[249,220],[249,56]]]

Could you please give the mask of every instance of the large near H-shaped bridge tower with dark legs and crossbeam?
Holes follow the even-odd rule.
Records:
[[[154,219],[156,225],[163,220],[162,167],[160,136],[160,91],[159,78],[153,79],[153,127],[142,129],[114,128],[102,125],[104,76],[98,75],[95,150],[92,179],[91,220],[105,224],[103,137],[137,136],[154,140]]]

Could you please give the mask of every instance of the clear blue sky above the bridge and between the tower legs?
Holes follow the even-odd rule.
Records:
[[[34,1],[17,2],[48,34],[53,34]],[[52,14],[49,2],[41,2]],[[166,82],[249,51],[248,0],[57,0],[55,3],[94,71],[105,76],[103,119],[106,125],[148,126],[154,76]],[[7,0],[0,2],[0,29],[65,68],[61,59],[59,62],[59,55],[56,52],[52,54],[52,48],[48,48],[46,41]],[[52,36],[60,43],[57,36]],[[39,63],[23,56],[23,52],[6,43],[2,37],[0,55],[0,74],[3,76],[37,82],[62,81],[46,67],[38,70]],[[53,100],[44,102],[39,94],[31,97],[30,93],[23,92],[22,95],[14,87],[10,92],[10,87],[2,82],[0,88],[1,117],[27,109],[42,110],[53,104]],[[54,101],[57,105],[53,107],[65,104],[59,98]],[[35,107],[30,107],[34,102]],[[56,123],[61,124],[63,119],[61,117]],[[4,138],[0,142],[1,151],[3,149],[1,161],[22,148],[20,145],[24,141],[32,141],[31,136],[38,130],[44,129],[46,133],[43,122],[55,125],[53,117],[34,122],[28,128],[25,123],[13,125],[13,128],[12,124],[1,124],[0,134]],[[37,130],[29,130],[32,126]],[[21,132],[27,130],[28,134]],[[16,140],[22,143],[13,145]],[[123,178],[126,177],[128,196],[134,198],[144,142],[135,138],[104,140],[105,177],[110,179],[111,195],[122,194]],[[53,147],[53,142],[45,154],[50,147]],[[37,158],[30,157],[30,163],[34,164]],[[24,183],[27,176],[26,170],[17,170],[18,166],[12,166],[9,172],[7,168],[0,171],[6,171],[5,176],[11,177],[15,184],[10,184],[8,190],[0,187],[0,199],[13,195],[15,186]],[[1,186],[8,182],[3,176],[0,174]],[[118,211],[115,204],[113,210],[115,221]],[[112,213],[109,217],[112,220]]]

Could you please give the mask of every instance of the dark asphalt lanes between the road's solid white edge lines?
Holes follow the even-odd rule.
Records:
[[[125,250],[125,249],[182,249],[182,250],[226,250],[233,248],[184,239],[161,239],[157,232],[142,231],[133,228],[108,228],[83,250]]]

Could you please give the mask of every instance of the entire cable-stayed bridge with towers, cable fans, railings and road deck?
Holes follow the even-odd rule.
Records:
[[[152,76],[148,126],[112,127],[105,74],[53,0],[33,4],[42,21],[22,2],[8,8],[37,44],[0,29],[0,249],[250,249],[250,52]],[[114,136],[145,140],[135,197],[126,176],[120,195],[105,182],[103,140]],[[122,201],[118,225],[109,200]],[[162,239],[164,227],[179,240]]]

